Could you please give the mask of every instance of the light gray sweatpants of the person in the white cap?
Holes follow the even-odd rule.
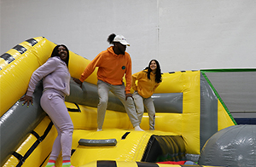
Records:
[[[116,95],[119,100],[123,103],[125,111],[127,112],[131,124],[133,127],[139,125],[139,120],[137,118],[137,112],[133,103],[132,98],[127,98],[125,101],[125,85],[112,85],[105,83],[102,80],[98,80],[98,95],[99,95],[99,104],[97,107],[97,124],[98,129],[102,129],[102,125],[105,118],[105,113],[108,107],[108,92],[111,91],[113,95]]]

